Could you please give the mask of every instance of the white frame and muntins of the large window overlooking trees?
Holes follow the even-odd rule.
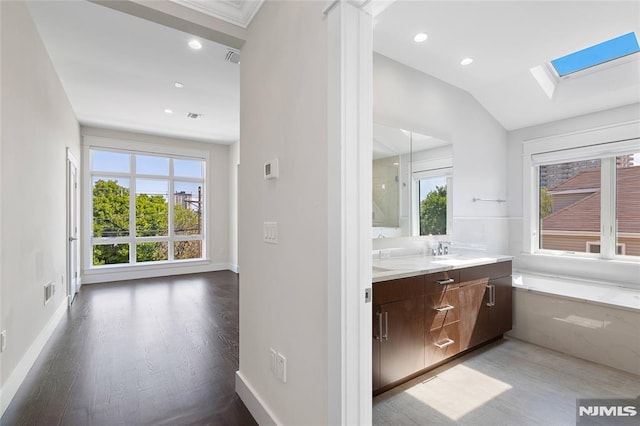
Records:
[[[187,149],[182,147],[174,147],[168,145],[161,144],[153,144],[147,142],[139,142],[132,140],[120,140],[113,138],[105,138],[98,136],[85,136],[85,142],[83,146],[83,157],[84,163],[86,167],[84,167],[83,173],[83,182],[84,182],[84,205],[85,205],[85,213],[83,214],[83,228],[86,230],[84,232],[83,238],[83,268],[85,271],[99,271],[99,270],[116,270],[116,269],[146,269],[149,267],[157,267],[157,266],[171,266],[171,265],[179,265],[179,264],[197,264],[202,262],[209,261],[209,254],[207,251],[207,238],[208,238],[208,204],[209,197],[207,196],[207,173],[209,169],[209,153],[207,151],[200,151],[194,149]],[[135,157],[131,157],[131,165],[130,171],[128,173],[117,173],[117,172],[93,172],[92,163],[91,163],[91,151],[111,151],[125,154],[134,154],[134,155],[144,155],[144,156],[160,156],[160,157],[169,157],[173,159],[184,159],[184,160],[199,160],[203,162],[203,177],[199,178],[187,178],[187,177],[174,177],[173,171],[169,170],[168,176],[156,176],[156,175],[142,175],[135,174]],[[170,162],[171,163],[171,162]],[[136,237],[135,232],[132,234],[129,232],[129,235],[126,237],[116,237],[116,238],[94,238],[93,237],[93,184],[92,179],[94,176],[104,176],[104,177],[122,177],[129,179],[129,193],[133,194],[132,196],[135,199],[135,179],[153,179],[153,180],[167,180],[169,181],[169,194],[173,192],[173,182],[202,182],[202,191],[204,194],[204,202],[202,206],[202,234],[201,235],[172,235],[171,232],[168,233],[167,236],[162,237]],[[171,196],[169,197],[168,204],[168,220],[171,222],[172,211],[173,211],[173,199]],[[135,205],[135,203],[134,203]],[[135,209],[130,208],[130,225],[135,224]],[[169,223],[169,229],[172,228],[172,224]],[[135,225],[133,226],[135,231]],[[131,230],[131,227],[130,227]],[[187,241],[187,240],[201,240],[202,241],[202,257],[197,259],[173,259],[173,243],[175,241]],[[129,244],[129,262],[121,263],[121,264],[111,264],[111,265],[93,265],[93,246],[95,244],[100,244],[101,241],[104,243],[115,243],[115,244]],[[136,243],[144,243],[144,242],[167,242],[169,244],[169,260],[163,261],[150,261],[150,262],[136,262]]]

